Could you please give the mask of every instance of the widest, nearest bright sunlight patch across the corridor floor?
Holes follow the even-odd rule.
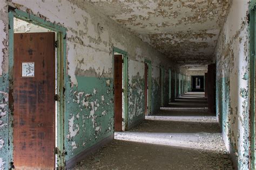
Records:
[[[218,144],[222,142],[220,133],[203,131],[198,133],[114,132],[114,139],[208,151],[216,151]]]

